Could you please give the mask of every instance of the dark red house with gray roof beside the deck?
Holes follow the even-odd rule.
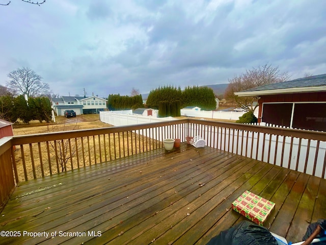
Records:
[[[235,92],[258,98],[258,122],[326,131],[326,74]]]

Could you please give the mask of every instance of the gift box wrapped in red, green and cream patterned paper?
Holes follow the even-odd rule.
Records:
[[[232,209],[249,218],[256,224],[262,226],[268,214],[275,207],[275,203],[270,202],[259,195],[248,190],[244,191],[232,203]]]

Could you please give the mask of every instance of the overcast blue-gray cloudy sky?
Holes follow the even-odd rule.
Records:
[[[266,63],[326,73],[325,0],[11,0],[0,32],[0,84],[25,66],[59,95],[228,83]]]

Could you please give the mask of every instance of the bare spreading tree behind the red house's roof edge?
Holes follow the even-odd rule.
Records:
[[[237,96],[234,92],[255,88],[262,85],[284,82],[289,79],[287,72],[281,72],[279,67],[273,67],[270,64],[253,67],[246,70],[246,73],[235,76],[229,80],[229,86],[226,88],[224,97],[229,101],[236,103],[238,106],[254,111],[258,104],[254,106],[254,102],[258,101],[256,97]]]

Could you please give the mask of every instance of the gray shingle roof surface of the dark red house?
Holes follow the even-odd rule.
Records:
[[[321,74],[321,75],[311,76],[308,78],[294,79],[282,83],[263,85],[256,88],[243,90],[241,92],[300,88],[300,87],[317,87],[317,86],[325,86],[325,85],[326,85],[326,74]]]

